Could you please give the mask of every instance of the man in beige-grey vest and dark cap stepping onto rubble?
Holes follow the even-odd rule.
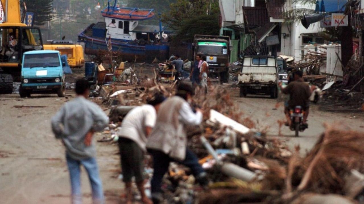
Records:
[[[188,103],[192,95],[191,84],[180,83],[176,96],[165,100],[159,107],[157,122],[148,138],[146,147],[153,155],[151,192],[154,204],[163,199],[162,179],[172,161],[189,167],[200,185],[208,184],[206,173],[198,163],[197,156],[187,148],[186,126],[202,122],[201,109],[196,108],[194,112]]]

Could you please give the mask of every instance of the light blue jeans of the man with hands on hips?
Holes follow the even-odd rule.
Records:
[[[84,166],[87,171],[88,178],[90,179],[93,204],[102,204],[104,202],[104,194],[96,159],[88,158],[76,160],[69,157],[68,155],[66,155],[66,159],[71,179],[72,204],[82,203],[80,165]]]

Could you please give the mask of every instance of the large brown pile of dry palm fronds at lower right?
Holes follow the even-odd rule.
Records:
[[[348,195],[350,187],[345,189],[345,184],[351,183],[345,178],[353,169],[364,172],[363,145],[363,133],[327,126],[305,158],[290,159],[286,196],[294,198],[302,192]]]

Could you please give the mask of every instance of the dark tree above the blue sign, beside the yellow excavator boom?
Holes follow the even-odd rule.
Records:
[[[23,3],[27,6],[27,12],[34,13],[34,25],[42,26],[51,20],[52,13],[52,1],[53,0],[20,0],[21,5]]]

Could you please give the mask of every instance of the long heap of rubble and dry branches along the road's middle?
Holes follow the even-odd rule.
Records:
[[[144,104],[155,92],[174,95],[175,84],[145,80],[135,86],[103,85],[100,97],[111,107],[112,124],[100,142],[116,142],[123,116]],[[163,190],[167,203],[312,203],[334,199],[355,203],[364,189],[364,134],[328,127],[317,144],[301,158],[280,140],[265,135],[264,127],[244,118],[222,86],[197,93],[204,121],[191,127],[188,146],[209,174],[208,191],[195,186],[189,169],[170,165]],[[150,162],[146,162],[150,163]],[[355,185],[351,185],[355,181]],[[324,195],[321,195],[324,194]],[[345,195],[346,197],[343,197]]]

